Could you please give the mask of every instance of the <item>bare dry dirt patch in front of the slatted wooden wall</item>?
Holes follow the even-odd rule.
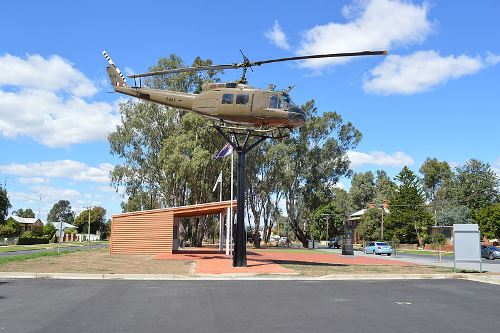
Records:
[[[109,255],[108,249],[76,251],[0,265],[2,272],[192,275],[190,260],[153,260],[153,255]]]

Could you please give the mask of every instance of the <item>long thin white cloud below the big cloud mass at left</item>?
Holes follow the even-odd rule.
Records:
[[[73,160],[0,165],[1,172],[19,177],[69,178],[99,183],[109,182],[109,173],[112,169],[113,165],[109,163],[92,167]]]

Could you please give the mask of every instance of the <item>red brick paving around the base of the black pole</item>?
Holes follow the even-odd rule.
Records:
[[[260,273],[293,274],[295,271],[280,264],[323,263],[338,265],[413,265],[399,260],[385,260],[377,257],[341,256],[334,253],[297,253],[258,250],[247,252],[247,267],[232,267],[231,257],[214,249],[196,248],[180,250],[174,254],[159,253],[157,260],[193,260],[197,274]]]

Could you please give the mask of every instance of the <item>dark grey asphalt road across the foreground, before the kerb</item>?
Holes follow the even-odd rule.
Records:
[[[5,280],[0,332],[491,332],[499,299],[463,280]]]

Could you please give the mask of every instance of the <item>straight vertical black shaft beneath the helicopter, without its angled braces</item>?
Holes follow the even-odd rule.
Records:
[[[238,197],[236,210],[236,234],[234,235],[233,267],[247,266],[247,247],[245,232],[245,169],[246,151],[238,149]]]

